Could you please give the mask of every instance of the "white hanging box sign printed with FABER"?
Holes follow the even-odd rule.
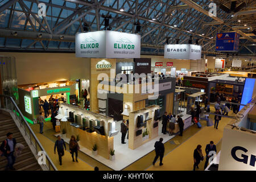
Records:
[[[201,46],[193,44],[168,44],[164,46],[164,58],[201,59]]]

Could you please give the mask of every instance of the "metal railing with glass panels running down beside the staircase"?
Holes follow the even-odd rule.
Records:
[[[52,160],[47,155],[46,151],[44,150],[42,144],[39,142],[38,138],[32,131],[30,125],[28,125],[26,119],[24,118],[23,114],[20,112],[19,107],[16,105],[15,101],[10,96],[0,95],[0,109],[7,109],[11,113],[15,114],[16,119],[19,121],[18,127],[22,127],[24,129],[24,133],[26,137],[30,140],[30,145],[35,149],[35,151],[31,150],[34,155],[38,155],[39,151],[44,151],[46,154],[46,164],[42,164],[44,168],[48,171],[57,171],[57,168],[52,163]]]

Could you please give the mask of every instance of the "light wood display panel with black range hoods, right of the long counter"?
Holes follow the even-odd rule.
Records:
[[[144,143],[158,137],[158,122],[155,121],[155,110],[160,109],[158,105],[148,106],[144,109],[130,112],[129,114],[129,148],[135,149]],[[143,119],[141,119],[143,118]],[[138,124],[138,121],[143,121]],[[148,137],[143,139],[143,133],[148,131]]]

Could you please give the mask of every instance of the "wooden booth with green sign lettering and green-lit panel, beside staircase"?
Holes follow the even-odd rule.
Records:
[[[79,96],[79,86],[76,81],[57,81],[49,83],[18,85],[19,109],[22,114],[32,123],[39,114],[39,97],[49,100],[52,96],[57,102],[76,104]],[[64,101],[60,98],[64,97]],[[43,108],[41,108],[43,112]],[[44,113],[44,112],[43,112]]]

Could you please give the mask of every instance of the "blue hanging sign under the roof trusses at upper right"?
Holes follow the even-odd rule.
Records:
[[[217,33],[216,51],[238,51],[239,34],[236,32]]]

